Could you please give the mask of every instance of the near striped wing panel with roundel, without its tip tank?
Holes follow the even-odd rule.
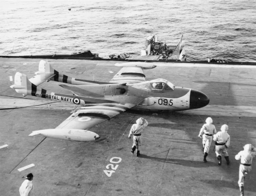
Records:
[[[63,121],[56,129],[89,129],[110,118],[130,109],[135,104],[131,103],[102,103],[88,105],[77,110]]]

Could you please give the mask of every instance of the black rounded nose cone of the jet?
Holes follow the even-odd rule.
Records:
[[[202,107],[208,105],[209,102],[210,102],[210,100],[206,94],[204,94],[200,91],[191,89],[190,101],[189,101],[190,109],[202,108]]]

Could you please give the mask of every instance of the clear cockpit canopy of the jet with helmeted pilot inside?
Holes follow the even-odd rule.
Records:
[[[168,91],[168,90],[173,91],[175,87],[171,82],[162,78],[140,82],[138,84],[134,84],[134,86],[147,89],[147,90],[153,90],[156,92],[157,91],[162,92],[162,91]]]

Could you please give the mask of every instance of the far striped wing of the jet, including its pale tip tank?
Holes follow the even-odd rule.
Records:
[[[145,81],[143,69],[153,69],[156,65],[144,62],[116,63],[115,66],[122,67],[116,75],[110,80],[119,84],[135,84]]]

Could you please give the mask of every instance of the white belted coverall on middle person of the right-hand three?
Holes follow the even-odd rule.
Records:
[[[230,136],[228,135],[227,130],[222,129],[221,131],[213,135],[213,140],[216,141],[217,144],[220,144],[220,145],[216,145],[215,143],[216,156],[218,157],[223,155],[227,157],[228,156],[227,148],[230,145]]]

